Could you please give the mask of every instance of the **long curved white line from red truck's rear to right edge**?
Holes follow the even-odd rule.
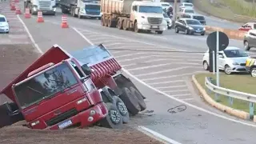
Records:
[[[143,82],[143,81],[140,80],[139,78],[135,77],[133,74],[130,74],[130,72],[129,72],[128,70],[126,70],[126,69],[122,69],[122,70],[123,70],[126,74],[130,75],[131,78],[134,78],[136,81],[140,82],[142,85],[149,87],[151,90],[154,90],[154,91],[158,92],[159,94],[162,94],[162,95],[166,96],[167,98],[173,99],[173,100],[175,100],[175,101],[177,101],[177,102],[181,102],[181,103],[185,104],[186,106],[193,107],[193,108],[196,109],[196,110],[201,110],[202,112],[205,112],[205,113],[207,113],[207,114],[214,115],[214,116],[216,116],[216,117],[218,117],[218,118],[223,118],[223,119],[226,119],[226,120],[228,120],[228,121],[230,121],[230,122],[237,122],[237,123],[240,123],[240,124],[245,125],[245,126],[252,126],[252,127],[255,127],[255,128],[256,128],[256,125],[254,125],[254,124],[250,124],[250,123],[247,123],[247,122],[242,122],[242,121],[236,120],[236,119],[234,119],[234,118],[227,118],[227,117],[224,116],[224,115],[216,114],[216,113],[211,112],[211,111],[209,111],[209,110],[205,110],[205,109],[203,109],[202,107],[194,106],[193,104],[190,104],[189,102],[185,102],[185,101],[182,101],[182,100],[180,100],[180,99],[178,99],[178,98],[174,98],[173,96],[171,96],[171,95],[169,95],[169,94],[166,94],[166,93],[163,93],[161,90],[157,90],[157,89],[155,89],[154,87],[152,87],[152,86],[146,84],[145,82]]]

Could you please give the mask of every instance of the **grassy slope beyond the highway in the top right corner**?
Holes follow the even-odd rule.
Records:
[[[250,22],[250,18],[256,19],[256,3],[244,0],[194,0],[194,6],[217,18],[223,18],[234,22]],[[238,17],[243,15],[250,18]]]

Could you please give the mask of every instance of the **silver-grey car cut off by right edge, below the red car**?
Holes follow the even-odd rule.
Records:
[[[243,44],[245,50],[250,50],[251,47],[256,47],[256,30],[249,30],[245,34],[243,38]]]

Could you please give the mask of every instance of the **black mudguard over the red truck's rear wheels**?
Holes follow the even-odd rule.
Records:
[[[118,85],[118,90],[114,90],[115,94],[120,95],[120,93],[122,94],[122,88],[123,87],[131,87],[133,86],[136,90],[138,90],[138,88],[134,85],[133,82],[130,81],[130,78],[126,78],[124,75],[122,74],[118,74],[117,76],[114,77],[114,81],[117,83]],[[139,94],[142,95],[142,98],[145,99],[146,97],[144,97],[144,95],[138,90]]]

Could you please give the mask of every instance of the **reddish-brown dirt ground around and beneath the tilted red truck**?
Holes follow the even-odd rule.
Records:
[[[26,66],[29,66],[36,58],[38,58],[38,54],[31,45],[0,45],[0,90],[18,76],[18,74],[22,73],[26,69]],[[0,95],[0,143],[3,144],[162,143],[128,125],[125,125],[122,130],[111,130],[98,126],[84,129],[30,130],[22,126],[24,121],[16,122],[16,118],[8,118],[8,114],[6,114],[3,106],[1,106],[6,101],[10,102],[10,99]],[[1,125],[3,124],[6,126],[2,127]]]

